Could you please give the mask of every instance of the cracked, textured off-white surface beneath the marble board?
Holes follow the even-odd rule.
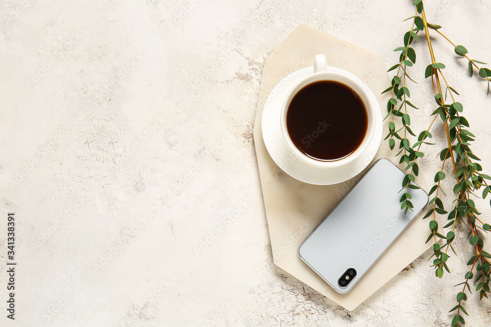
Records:
[[[273,265],[252,144],[264,58],[298,24],[390,67],[410,2],[1,1],[0,212],[17,219],[15,323],[447,326],[466,235],[456,237],[452,274],[437,279],[427,252],[347,312]],[[471,57],[491,60],[487,1],[426,7]],[[434,106],[424,46],[411,69],[421,107],[413,130]],[[448,43],[434,47],[490,174],[486,84],[467,77]],[[432,132],[441,148],[442,130]],[[430,185],[436,147],[420,164]],[[443,188],[451,192],[448,180]],[[3,239],[6,218],[0,226]],[[6,280],[2,268],[0,303]],[[5,308],[0,324],[11,326]],[[467,326],[491,324],[489,301],[470,297],[466,308]]]

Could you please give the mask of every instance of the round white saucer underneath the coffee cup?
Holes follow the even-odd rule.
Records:
[[[327,67],[329,72],[338,72],[334,67]],[[266,149],[273,161],[288,175],[309,184],[330,185],[344,182],[358,175],[365,169],[379,150],[382,141],[382,113],[376,110],[375,133],[372,141],[358,158],[346,166],[338,168],[316,168],[307,166],[301,160],[297,160],[297,154],[291,152],[286,145],[281,131],[281,107],[290,89],[302,78],[313,74],[313,67],[302,68],[283,78],[271,91],[264,104],[261,117],[261,131]]]

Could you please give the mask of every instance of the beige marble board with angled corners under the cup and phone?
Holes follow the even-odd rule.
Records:
[[[317,53],[326,55],[327,65],[347,70],[365,81],[380,103],[382,116],[385,116],[388,98],[381,92],[390,85],[390,78],[382,57],[313,27],[300,25],[265,61],[254,124],[254,144],[274,264],[351,311],[429,248],[425,244],[429,231],[427,222],[421,219],[423,214],[420,214],[347,294],[335,292],[300,260],[298,248],[305,236],[365,171],[379,158],[395,161],[395,153],[388,149],[386,142],[382,142],[375,159],[365,171],[344,183],[327,186],[300,182],[282,172],[273,162],[261,134],[264,102],[282,78],[300,68],[312,66]],[[416,182],[423,189],[428,189],[422,174]],[[349,235],[349,229],[346,233]]]

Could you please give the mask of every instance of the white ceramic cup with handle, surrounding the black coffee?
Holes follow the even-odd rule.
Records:
[[[314,158],[305,155],[300,150],[298,150],[297,147],[293,144],[286,127],[286,114],[288,112],[288,107],[293,97],[306,85],[318,81],[323,81],[323,80],[336,81],[345,84],[349,86],[351,89],[353,89],[365,104],[365,108],[368,116],[367,132],[361,144],[358,146],[358,148],[356,148],[355,151],[353,151],[346,157],[343,157],[338,160],[322,161],[322,160],[316,160]],[[376,114],[377,112],[380,112],[379,103],[375,98],[373,92],[361,79],[341,69],[336,69],[336,72],[328,72],[327,64],[326,64],[326,56],[324,54],[317,54],[314,60],[314,73],[301,79],[288,92],[285,100],[283,101],[283,106],[281,108],[281,116],[280,116],[281,130],[288,150],[297,159],[301,160],[306,165],[311,167],[327,168],[327,169],[334,168],[334,167],[341,167],[349,164],[350,162],[358,158],[360,154],[363,153],[363,151],[365,151],[368,145],[370,144],[370,141],[372,140],[375,133],[376,120],[382,119],[380,115]],[[347,126],[347,128],[349,127]]]

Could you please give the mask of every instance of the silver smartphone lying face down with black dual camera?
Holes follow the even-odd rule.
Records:
[[[404,176],[380,159],[300,245],[303,262],[337,292],[349,292],[428,203],[410,188],[414,211],[404,213]]]

